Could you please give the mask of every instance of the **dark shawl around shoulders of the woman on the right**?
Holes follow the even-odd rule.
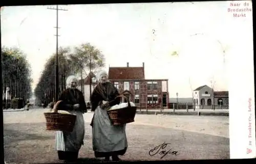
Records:
[[[91,97],[92,111],[95,111],[95,109],[97,108],[99,103],[102,102],[102,100],[109,101],[110,106],[119,104],[121,101],[121,98],[118,97],[115,99],[115,97],[119,95],[120,94],[116,89],[116,87],[110,82],[99,83],[95,87],[92,93],[92,97]]]

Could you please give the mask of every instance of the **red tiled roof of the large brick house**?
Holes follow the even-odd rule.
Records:
[[[110,67],[109,79],[145,79],[143,67]]]

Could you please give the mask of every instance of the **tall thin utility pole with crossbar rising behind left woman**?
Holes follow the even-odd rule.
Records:
[[[63,10],[67,11],[66,9],[59,9],[58,5],[56,5],[56,8],[47,8],[47,9],[52,9],[56,10],[56,59],[55,59],[55,101],[58,101],[58,96],[59,96],[59,69],[58,69],[58,11]]]

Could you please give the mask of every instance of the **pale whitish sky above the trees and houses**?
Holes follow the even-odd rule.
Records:
[[[250,1],[232,1],[232,3]],[[252,12],[234,17],[231,1],[60,5],[59,46],[90,42],[109,66],[142,66],[145,78],[168,79],[169,97],[191,97],[202,85],[228,90],[232,56],[252,48]],[[2,46],[17,46],[32,67],[33,89],[56,51],[56,6],[1,8]],[[241,7],[243,8],[243,7]],[[246,43],[246,44],[245,44]],[[223,53],[225,50],[225,53]],[[177,51],[178,56],[172,56]],[[245,53],[245,54],[243,54]],[[224,58],[225,57],[225,58]],[[237,58],[236,58],[237,59]],[[239,61],[237,61],[239,62]],[[189,83],[190,81],[190,83]]]

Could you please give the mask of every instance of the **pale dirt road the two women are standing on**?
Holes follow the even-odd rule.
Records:
[[[61,162],[54,149],[55,132],[45,130],[43,113],[47,110],[4,112],[4,149],[7,163]],[[84,114],[86,136],[79,153],[80,162],[97,161],[92,151],[89,125],[93,113]],[[159,160],[149,151],[166,142],[166,149],[179,155],[161,160],[229,158],[228,117],[136,115],[126,125],[129,148],[122,160]],[[168,150],[167,150],[168,151]]]

